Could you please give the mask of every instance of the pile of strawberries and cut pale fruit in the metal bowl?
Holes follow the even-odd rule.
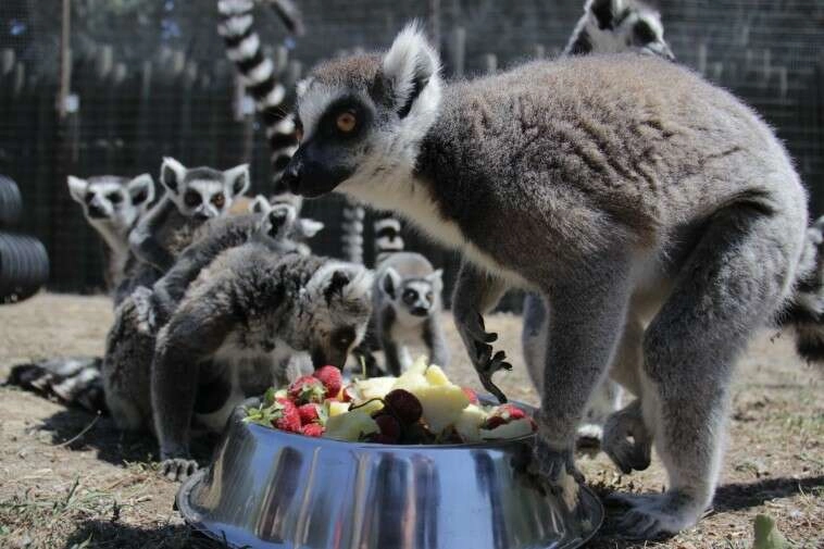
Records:
[[[344,386],[324,366],[286,389],[271,388],[245,421],[310,437],[378,444],[462,444],[528,435],[535,422],[513,404],[484,405],[472,389],[419,360],[400,377]]]

